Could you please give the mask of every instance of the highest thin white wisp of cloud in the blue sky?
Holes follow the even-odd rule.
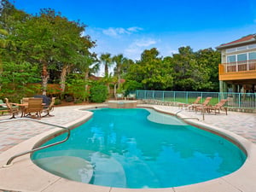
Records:
[[[110,37],[118,38],[119,35],[123,35],[123,34],[130,35],[133,32],[138,32],[138,31],[141,31],[141,30],[143,30],[143,28],[137,27],[137,26],[132,26],[132,27],[129,27],[127,29],[122,28],[122,27],[116,27],[116,28],[109,27],[108,29],[103,29],[102,32],[105,35],[108,35]]]

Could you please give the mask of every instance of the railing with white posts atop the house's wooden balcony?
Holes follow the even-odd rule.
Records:
[[[221,65],[224,66],[224,73],[245,72],[245,71],[256,70],[256,60],[236,61],[236,62],[222,63]]]

